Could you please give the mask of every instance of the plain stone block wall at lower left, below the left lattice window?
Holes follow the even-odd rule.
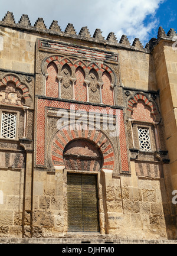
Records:
[[[0,171],[0,234],[22,237],[22,212],[24,196],[24,168]]]

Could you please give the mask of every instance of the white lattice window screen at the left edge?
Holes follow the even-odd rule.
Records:
[[[16,133],[17,114],[2,113],[1,138],[14,139]]]

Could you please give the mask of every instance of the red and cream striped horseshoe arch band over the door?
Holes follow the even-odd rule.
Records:
[[[51,142],[51,155],[49,156],[51,158],[51,164],[53,167],[57,168],[65,167],[65,157],[67,157],[67,145],[70,145],[70,143],[78,144],[81,142],[81,144],[84,144],[87,148],[84,150],[84,155],[81,158],[84,158],[86,160],[86,152],[88,153],[91,148],[93,149],[93,155],[89,160],[89,163],[87,162],[87,168],[88,170],[99,171],[101,168],[113,170],[114,169],[114,148],[112,143],[109,141],[109,139],[104,135],[102,131],[97,131],[96,129],[92,129],[91,131],[86,129],[84,131],[81,131],[79,128],[73,129],[72,125],[68,129],[63,128],[61,131],[57,131],[54,135],[53,141]],[[88,144],[88,145],[87,145]],[[75,148],[76,149],[76,148]],[[94,151],[99,150],[99,154],[94,155]],[[78,154],[78,152],[81,153],[83,149],[80,147],[79,150],[75,150]],[[74,151],[74,152],[75,152]],[[99,161],[95,165],[94,157]],[[100,159],[103,158],[102,160]],[[69,163],[69,162],[68,162]],[[73,166],[78,167],[81,162],[78,164],[78,160],[76,163],[73,164]],[[83,164],[83,163],[82,163]],[[90,166],[91,165],[91,166]],[[100,168],[99,168],[100,166]],[[73,167],[72,167],[73,168]],[[83,167],[84,168],[84,167]],[[77,168],[76,168],[77,170]]]

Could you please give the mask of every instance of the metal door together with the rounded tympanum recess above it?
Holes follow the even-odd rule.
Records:
[[[100,232],[96,173],[103,166],[101,151],[89,140],[73,140],[64,148],[63,161],[68,170],[68,231]]]

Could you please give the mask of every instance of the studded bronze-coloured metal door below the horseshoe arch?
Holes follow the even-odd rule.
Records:
[[[96,175],[68,173],[67,203],[68,231],[100,231]]]

